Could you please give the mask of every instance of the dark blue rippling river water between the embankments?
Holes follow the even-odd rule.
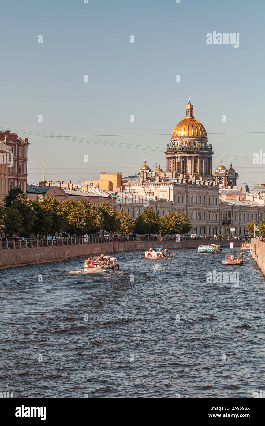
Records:
[[[265,279],[255,263],[169,250],[0,271],[0,391],[14,398],[253,398],[265,389]],[[234,282],[207,283],[233,271]],[[207,275],[208,274],[208,275]]]

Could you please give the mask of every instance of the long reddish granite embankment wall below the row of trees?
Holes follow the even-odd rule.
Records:
[[[32,265],[34,263],[55,262],[70,257],[85,257],[99,253],[119,253],[120,251],[146,250],[149,247],[168,249],[197,248],[199,244],[211,244],[217,241],[182,240],[176,241],[125,241],[104,242],[81,245],[48,246],[34,248],[13,248],[0,250],[0,269],[14,266]],[[218,240],[221,247],[229,247],[227,240]],[[235,240],[235,247],[241,246],[243,240]]]

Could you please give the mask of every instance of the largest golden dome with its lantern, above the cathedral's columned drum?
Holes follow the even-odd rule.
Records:
[[[174,128],[172,138],[181,138],[185,136],[207,138],[207,133],[202,124],[195,120],[193,116],[193,105],[188,101],[186,105],[186,116]]]

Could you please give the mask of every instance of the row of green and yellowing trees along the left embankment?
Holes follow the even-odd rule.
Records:
[[[146,208],[137,219],[123,210],[116,211],[110,202],[94,206],[88,200],[57,201],[55,196],[45,196],[42,201],[29,201],[19,188],[9,191],[5,207],[0,206],[0,229],[9,236],[15,233],[43,237],[64,232],[72,235],[91,235],[100,230],[109,234],[161,235],[187,233],[191,224],[183,213],[173,211],[159,218],[151,208]]]

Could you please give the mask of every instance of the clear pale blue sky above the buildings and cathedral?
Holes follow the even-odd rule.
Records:
[[[265,152],[265,133],[248,132],[265,132],[264,9],[257,0],[2,3],[0,130],[28,136],[28,182],[42,180],[43,163],[46,179],[74,183],[137,172],[145,157],[165,170],[188,95],[214,169],[222,157],[239,184],[263,181],[265,164],[252,158]],[[213,31],[239,33],[239,47],[207,45]]]

